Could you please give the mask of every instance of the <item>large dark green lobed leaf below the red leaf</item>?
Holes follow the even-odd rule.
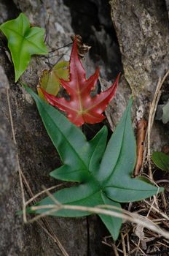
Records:
[[[63,181],[77,181],[75,187],[61,189],[53,196],[62,204],[76,206],[112,205],[120,209],[121,202],[141,200],[161,192],[141,178],[131,178],[135,167],[135,138],[130,117],[132,99],[119,122],[108,145],[107,128],[103,127],[93,140],[87,141],[82,131],[51,105],[34,94],[44,127],[57,148],[63,165],[53,170],[50,176]],[[106,148],[106,149],[105,149]],[[50,197],[41,200],[38,206],[55,204]],[[36,206],[37,206],[36,205]],[[42,214],[49,208],[28,213]],[[112,210],[113,211],[113,210]],[[120,210],[119,210],[120,211]],[[62,209],[50,215],[58,217],[82,217],[90,212]],[[99,214],[114,240],[119,236],[122,219]]]

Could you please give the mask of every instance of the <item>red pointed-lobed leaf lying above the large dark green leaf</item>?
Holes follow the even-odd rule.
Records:
[[[101,94],[97,94],[95,97],[91,97],[90,92],[97,83],[98,75],[99,70],[97,69],[94,75],[86,79],[86,73],[78,57],[75,37],[71,50],[69,81],[60,80],[61,85],[68,92],[70,99],[66,100],[64,97],[55,97],[43,89],[41,90],[47,102],[65,111],[68,119],[76,124],[76,126],[79,127],[84,122],[88,124],[99,123],[105,118],[102,113],[114,97],[119,75],[109,89],[102,91]]]

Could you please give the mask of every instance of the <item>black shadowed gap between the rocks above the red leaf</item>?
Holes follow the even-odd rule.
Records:
[[[92,45],[90,58],[95,66],[104,66],[107,79],[116,78],[122,71],[122,61],[109,1],[63,1],[70,8],[71,26],[75,34],[80,34],[84,43]]]

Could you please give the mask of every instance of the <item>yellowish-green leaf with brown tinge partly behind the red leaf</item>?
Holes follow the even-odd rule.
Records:
[[[44,94],[39,89],[41,87],[44,91],[47,91],[48,94],[56,96],[60,89],[60,79],[68,80],[69,75],[69,62],[60,61],[58,64],[55,64],[51,70],[45,69],[42,73],[41,78],[39,79],[39,86],[37,87],[39,97],[47,100],[44,97]]]

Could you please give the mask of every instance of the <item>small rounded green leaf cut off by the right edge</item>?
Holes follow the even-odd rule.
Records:
[[[161,170],[169,171],[169,156],[162,152],[154,152],[152,154],[152,161]]]

